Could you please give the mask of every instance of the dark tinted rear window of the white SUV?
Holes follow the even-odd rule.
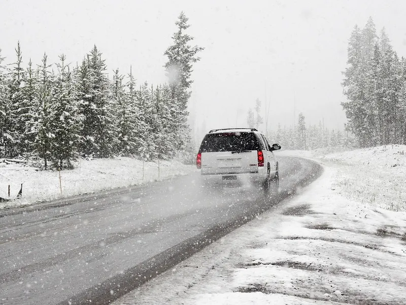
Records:
[[[200,145],[200,153],[217,151],[240,151],[261,149],[254,133],[214,133],[207,134]]]

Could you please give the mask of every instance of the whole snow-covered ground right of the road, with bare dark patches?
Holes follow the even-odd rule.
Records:
[[[295,199],[115,304],[406,304],[404,150],[319,156],[323,175]]]

